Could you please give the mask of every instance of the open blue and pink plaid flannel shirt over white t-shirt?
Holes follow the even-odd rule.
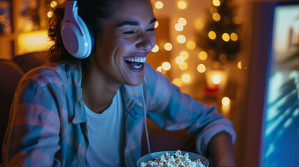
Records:
[[[82,67],[74,63],[46,63],[22,78],[3,141],[4,166],[84,165],[89,143],[81,81]],[[126,112],[125,166],[135,166],[141,156],[144,109],[164,129],[187,128],[197,134],[201,154],[218,132],[228,132],[235,141],[231,121],[215,106],[195,102],[148,64],[143,84],[122,85],[121,95]]]

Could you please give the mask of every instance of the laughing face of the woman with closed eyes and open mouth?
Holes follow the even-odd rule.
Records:
[[[119,0],[96,40],[91,61],[105,79],[137,86],[146,56],[155,45],[155,17],[148,0]]]

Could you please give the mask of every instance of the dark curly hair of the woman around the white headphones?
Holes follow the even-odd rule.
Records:
[[[78,0],[78,15],[82,17],[85,24],[89,27],[91,34],[95,35],[102,31],[103,22],[105,19],[112,15],[112,8],[115,6],[118,0]],[[61,21],[64,15],[65,3],[56,6],[53,10],[53,15],[49,19],[49,39],[54,42],[54,45],[50,47],[49,61],[55,62],[81,62],[83,70],[89,66],[89,58],[79,59],[70,55],[66,48],[63,46],[61,38]],[[96,32],[96,33],[95,33]]]

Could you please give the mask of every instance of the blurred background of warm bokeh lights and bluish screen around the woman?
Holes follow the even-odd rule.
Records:
[[[299,1],[151,2],[148,63],[232,120],[238,166],[298,166]],[[47,20],[59,3],[0,0],[0,59],[49,49]]]

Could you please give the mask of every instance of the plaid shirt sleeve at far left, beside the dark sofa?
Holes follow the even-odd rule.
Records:
[[[60,166],[59,114],[51,85],[22,81],[3,141],[4,166]],[[52,87],[53,89],[53,87]]]

